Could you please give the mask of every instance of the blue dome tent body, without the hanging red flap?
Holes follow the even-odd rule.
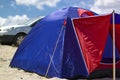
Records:
[[[97,14],[79,7],[69,7],[44,17],[25,37],[10,66],[46,77],[89,76],[71,18],[93,15]],[[112,45],[112,40],[107,40],[102,61],[108,59],[106,51],[109,50],[109,43]]]

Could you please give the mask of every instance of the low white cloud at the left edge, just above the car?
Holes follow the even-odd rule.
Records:
[[[25,14],[22,16],[8,16],[7,18],[0,17],[0,26],[21,24],[28,19],[28,16]]]

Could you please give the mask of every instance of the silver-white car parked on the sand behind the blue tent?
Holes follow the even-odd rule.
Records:
[[[0,43],[10,43],[19,46],[24,37],[41,17],[31,19],[22,25],[10,25],[0,27]]]

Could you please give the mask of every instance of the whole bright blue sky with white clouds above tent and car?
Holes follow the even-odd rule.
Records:
[[[0,26],[23,23],[65,7],[75,6],[98,14],[120,13],[120,0],[0,0]]]

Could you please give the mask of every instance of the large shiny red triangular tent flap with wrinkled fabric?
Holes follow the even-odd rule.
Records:
[[[89,73],[99,65],[109,31],[111,15],[73,19]]]

